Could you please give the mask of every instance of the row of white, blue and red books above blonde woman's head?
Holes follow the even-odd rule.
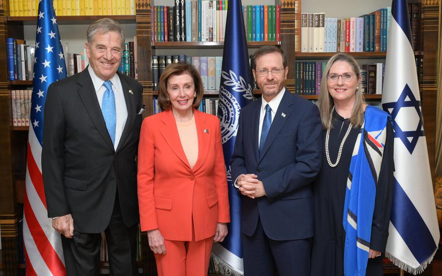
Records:
[[[391,7],[361,17],[301,14],[301,52],[386,52]]]

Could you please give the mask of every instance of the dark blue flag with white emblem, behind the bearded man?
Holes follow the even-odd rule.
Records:
[[[224,242],[213,245],[217,263],[233,275],[244,273],[242,263],[240,211],[241,195],[233,187],[230,157],[235,145],[238,118],[241,107],[253,100],[247,39],[242,16],[241,0],[229,0],[222,54],[220,99],[218,117],[221,121],[222,148],[229,187],[230,219],[229,234]]]

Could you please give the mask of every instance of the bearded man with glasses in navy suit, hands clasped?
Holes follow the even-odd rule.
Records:
[[[264,46],[253,75],[262,98],[241,110],[231,158],[244,195],[241,240],[245,276],[307,276],[313,236],[311,182],[321,167],[322,125],[311,102],[284,87],[285,53]]]

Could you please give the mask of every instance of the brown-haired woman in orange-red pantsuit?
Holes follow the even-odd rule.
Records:
[[[196,109],[204,88],[192,65],[167,66],[158,87],[162,112],[143,121],[138,146],[141,231],[158,275],[203,276],[230,222],[220,121]]]

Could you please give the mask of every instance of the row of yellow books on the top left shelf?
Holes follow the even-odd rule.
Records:
[[[37,16],[39,0],[9,0],[9,16]],[[135,15],[135,0],[53,0],[57,16]]]

